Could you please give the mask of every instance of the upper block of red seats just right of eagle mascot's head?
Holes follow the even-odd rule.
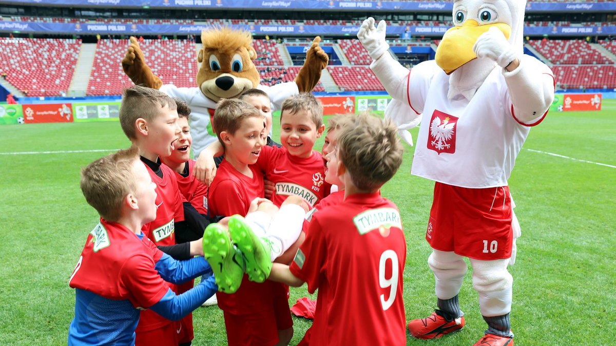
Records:
[[[588,42],[572,40],[530,40],[529,44],[554,64],[605,64],[614,63]]]

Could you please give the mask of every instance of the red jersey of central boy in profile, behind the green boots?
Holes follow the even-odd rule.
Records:
[[[209,208],[211,215],[246,216],[250,202],[257,197],[263,198],[265,188],[263,174],[250,165],[253,177],[249,178],[233,167],[229,161],[222,160],[216,171],[214,181],[209,185]],[[269,281],[255,283],[244,275],[240,289],[233,294],[216,292],[218,306],[225,312],[235,315],[258,313],[272,305]]]

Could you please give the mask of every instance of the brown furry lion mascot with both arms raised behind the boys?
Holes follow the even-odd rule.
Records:
[[[139,42],[132,37],[122,60],[122,68],[135,84],[160,89],[188,103],[192,110],[190,127],[193,133],[193,155],[197,157],[201,150],[216,140],[216,134],[211,128],[211,117],[220,99],[232,99],[248,89],[257,88],[269,95],[276,109],[290,95],[312,91],[321,78],[321,71],[329,62],[327,54],[318,46],[320,41],[318,36],[312,41],[304,66],[294,82],[271,87],[259,84],[259,71],[253,63],[257,52],[252,46],[252,34],[227,27],[209,28],[201,33],[203,48],[197,57],[201,64],[197,72],[197,87],[163,85],[145,63]]]

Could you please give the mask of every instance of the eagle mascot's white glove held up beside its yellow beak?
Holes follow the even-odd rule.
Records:
[[[509,63],[519,58],[509,41],[505,38],[505,34],[495,27],[481,34],[474,46],[472,46],[472,50],[474,50],[478,58],[490,58],[502,68],[506,68]]]

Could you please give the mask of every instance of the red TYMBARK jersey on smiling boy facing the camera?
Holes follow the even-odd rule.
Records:
[[[262,147],[257,166],[274,183],[272,203],[280,207],[290,195],[298,195],[314,207],[325,196],[323,156],[316,150],[309,158],[290,155],[284,148]]]

